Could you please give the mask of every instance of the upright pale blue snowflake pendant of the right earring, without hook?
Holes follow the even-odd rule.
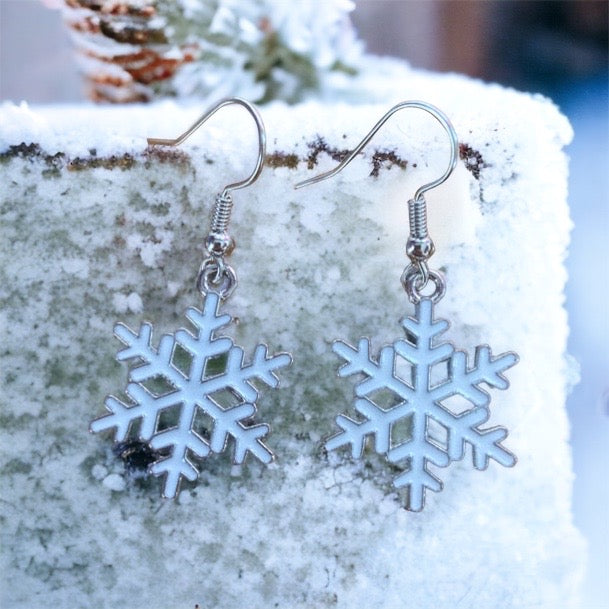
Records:
[[[374,449],[391,463],[407,464],[406,471],[393,481],[407,488],[406,508],[420,511],[425,506],[425,491],[441,491],[442,482],[428,469],[429,464],[447,467],[462,459],[465,445],[470,444],[473,465],[486,469],[489,459],[511,467],[516,458],[500,442],[507,436],[504,427],[480,429],[489,418],[490,395],[481,387],[507,389],[509,383],[502,372],[518,362],[515,353],[492,357],[486,345],[476,347],[474,366],[468,368],[467,354],[455,350],[450,342],[436,342],[449,323],[434,319],[433,302],[422,298],[416,305],[415,317],[402,321],[406,340],[396,340],[381,349],[378,360],[370,356],[370,342],[359,341],[357,348],[336,341],[333,350],[347,363],[339,369],[341,377],[363,374],[355,386],[354,406],[359,420],[344,415],[336,418],[341,432],[329,438],[328,450],[350,446],[354,459],[360,459],[368,436],[374,438]],[[442,365],[447,374],[437,378]],[[383,394],[390,393],[393,403],[380,405]],[[377,395],[376,402],[372,400]],[[451,399],[461,396],[465,409],[455,413]],[[401,422],[400,425],[396,425]],[[406,438],[394,443],[399,429]],[[441,439],[440,436],[445,438]]]

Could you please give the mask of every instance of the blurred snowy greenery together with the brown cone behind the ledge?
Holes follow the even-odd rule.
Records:
[[[94,100],[297,102],[362,53],[351,0],[64,0]]]

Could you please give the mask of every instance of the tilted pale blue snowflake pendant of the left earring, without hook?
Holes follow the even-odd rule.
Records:
[[[279,379],[275,371],[288,366],[292,357],[288,353],[267,357],[267,346],[259,344],[253,362],[244,365],[241,347],[226,336],[214,336],[231,321],[230,315],[218,315],[219,305],[220,297],[208,293],[202,311],[194,307],[186,311],[186,317],[197,330],[196,335],[181,328],[175,334],[162,336],[158,349],[150,344],[151,324],[141,324],[138,332],[121,323],[114,327],[114,334],[126,345],[118,352],[117,359],[137,359],[142,363],[129,373],[131,382],[126,393],[132,403],[108,396],[105,405],[110,414],[95,419],[91,431],[116,428],[115,441],[123,442],[131,424],[141,420],[139,439],[155,451],[170,449],[169,454],[149,468],[155,476],[166,474],[163,497],[177,495],[182,477],[190,481],[197,479],[199,472],[190,453],[200,458],[220,453],[226,448],[229,436],[234,440],[236,464],[243,463],[248,452],[263,463],[273,460],[273,453],[261,440],[268,434],[269,426],[251,424],[259,393],[252,381],[258,379],[277,387]],[[188,363],[185,365],[179,360]],[[150,388],[151,384],[158,385],[159,379],[165,386],[161,393]],[[218,399],[222,396],[226,401],[223,395],[226,393],[231,396],[228,405]],[[177,423],[160,429],[163,413],[170,409],[174,414],[177,409]],[[200,415],[211,421],[208,438],[199,431]]]

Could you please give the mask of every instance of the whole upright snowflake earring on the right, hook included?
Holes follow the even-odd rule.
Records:
[[[443,276],[430,270],[427,264],[434,253],[434,245],[427,231],[424,193],[442,184],[455,168],[457,134],[438,108],[426,102],[402,102],[389,110],[336,168],[300,182],[296,188],[336,175],[355,158],[389,117],[403,108],[424,110],[442,125],[450,137],[450,163],[440,178],[421,186],[414,198],[408,201],[410,235],[406,254],[410,264],[405,268],[401,281],[408,299],[415,305],[415,314],[402,321],[406,337],[383,347],[378,358],[371,355],[367,338],[360,339],[357,347],[340,340],[334,342],[334,352],[346,362],[338,375],[363,375],[364,378],[355,385],[353,406],[357,418],[338,415],[336,423],[341,431],[325,442],[325,448],[349,447],[351,456],[360,459],[366,440],[371,437],[377,453],[385,455],[390,463],[404,465],[404,471],[398,474],[393,484],[407,489],[406,508],[420,511],[425,506],[426,490],[437,492],[443,486],[429,466],[447,467],[452,461],[462,459],[466,444],[472,448],[476,469],[486,469],[489,459],[506,467],[516,463],[514,455],[501,445],[507,430],[504,427],[481,429],[480,426],[489,418],[491,400],[481,384],[507,389],[509,383],[502,373],[518,362],[518,356],[507,352],[493,357],[490,348],[481,345],[476,347],[473,365],[468,365],[465,352],[456,350],[448,341],[440,340],[449,323],[436,319],[434,315],[434,307],[444,296],[446,284]],[[425,296],[423,291],[429,282],[434,290]],[[432,370],[439,364],[446,366],[447,375],[438,382],[435,376],[432,380]],[[401,370],[408,368],[409,374],[400,374]],[[398,403],[391,408],[381,406],[374,401],[375,393],[379,391],[391,392]],[[468,408],[458,414],[445,403],[456,395],[468,402]],[[409,432],[401,443],[394,443],[394,432],[398,431],[397,428],[394,430],[394,424],[398,421],[403,423],[400,429],[406,427]],[[445,441],[434,434],[433,422],[444,428]]]

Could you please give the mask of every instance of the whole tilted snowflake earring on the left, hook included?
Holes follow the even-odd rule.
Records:
[[[205,245],[208,256],[197,276],[197,288],[203,296],[202,310],[190,307],[186,317],[195,331],[181,328],[175,334],[165,334],[158,348],[152,343],[152,325],[142,323],[138,331],[122,323],[114,334],[125,345],[117,354],[119,361],[137,361],[140,365],[129,372],[126,387],[128,402],[110,395],[105,406],[110,414],[91,423],[91,431],[116,428],[115,441],[124,442],[130,428],[140,421],[139,440],[160,454],[149,467],[155,476],[165,475],[163,497],[177,495],[181,479],[197,479],[199,471],[192,455],[204,458],[220,453],[229,436],[234,442],[234,463],[243,463],[247,453],[263,463],[273,460],[273,453],[262,442],[270,431],[266,424],[252,423],[256,413],[258,389],[254,380],[277,387],[275,374],[292,362],[289,353],[269,357],[267,346],[259,344],[253,361],[244,364],[241,347],[216,332],[230,321],[229,315],[219,314],[219,308],[237,285],[235,271],[225,260],[233,248],[227,229],[232,210],[231,192],[252,184],[260,175],[266,150],[266,134],[256,108],[240,98],[225,99],[211,107],[188,131],[175,140],[148,139],[151,145],[175,146],[183,142],[220,108],[230,104],[243,106],[254,118],[258,129],[258,160],[253,173],[241,182],[229,184],[216,197],[214,215]],[[156,393],[150,384],[161,378],[169,390]],[[230,395],[229,403],[226,396]],[[160,428],[160,418],[168,409],[177,410],[177,421],[170,428]],[[200,415],[211,420],[211,432],[205,432],[198,421]],[[174,413],[175,416],[175,413]],[[207,427],[209,427],[209,423]]]

